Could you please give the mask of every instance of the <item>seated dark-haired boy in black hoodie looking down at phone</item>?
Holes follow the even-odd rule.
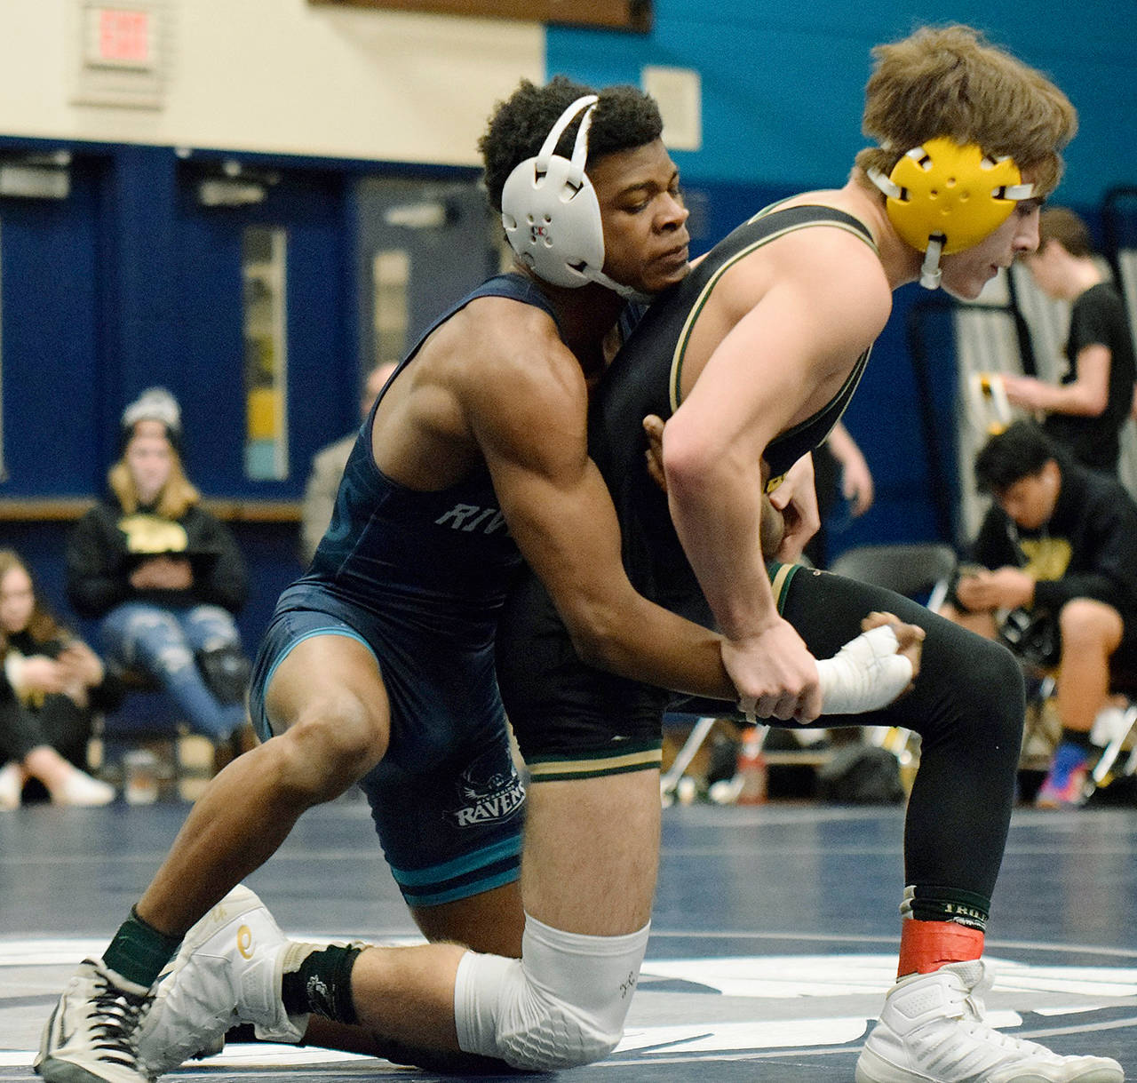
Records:
[[[945,615],[1056,662],[1062,737],[1038,803],[1079,804],[1110,670],[1137,668],[1137,504],[1029,421],[987,441],[976,480],[994,504]]]

